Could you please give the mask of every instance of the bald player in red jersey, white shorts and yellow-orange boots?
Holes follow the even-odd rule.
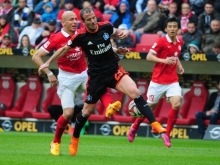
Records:
[[[71,39],[71,36],[77,33],[77,22],[75,13],[72,11],[64,12],[62,15],[63,29],[50,36],[49,40],[35,53],[32,58],[33,61],[38,66],[41,66],[43,64],[42,58],[44,56],[53,50],[58,50],[66,45],[67,41]],[[47,74],[51,85],[58,85],[57,94],[61,99],[63,108],[63,115],[57,120],[54,139],[51,143],[50,152],[53,155],[60,155],[61,137],[74,113],[76,90],[79,88],[85,90],[85,84],[88,78],[84,51],[79,46],[72,47],[63,57],[59,58],[57,60],[57,65],[59,68],[58,80],[48,68],[43,69],[43,72]],[[107,109],[107,117],[111,117],[111,115],[121,107],[119,101],[110,104],[112,102],[111,95],[106,92],[103,93],[100,100]]]

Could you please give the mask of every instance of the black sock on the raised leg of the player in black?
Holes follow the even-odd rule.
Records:
[[[156,121],[156,118],[151,110],[151,108],[148,106],[147,102],[144,100],[144,98],[140,95],[134,99],[134,102],[139,109],[139,111],[148,119],[150,123],[153,123]]]

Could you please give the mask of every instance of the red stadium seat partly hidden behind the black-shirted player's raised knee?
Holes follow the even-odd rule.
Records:
[[[144,97],[145,100],[147,100],[147,89],[148,89],[148,80],[147,79],[138,79],[136,81],[137,84],[137,88],[141,91],[142,96]],[[135,118],[133,118],[129,112],[128,112],[128,105],[131,102],[131,98],[128,98],[128,101],[125,103],[124,105],[124,113],[125,116],[123,115],[114,115],[114,120],[115,121],[119,121],[119,122],[133,122],[135,120]]]

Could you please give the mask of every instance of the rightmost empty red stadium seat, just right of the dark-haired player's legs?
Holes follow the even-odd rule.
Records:
[[[193,125],[196,124],[195,113],[203,111],[208,99],[208,90],[202,81],[195,81],[190,91],[184,95],[184,103],[180,108],[180,115],[177,125]]]

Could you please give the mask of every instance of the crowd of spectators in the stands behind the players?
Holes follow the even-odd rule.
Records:
[[[111,14],[114,27],[130,30],[135,36],[115,46],[135,47],[143,34],[166,35],[167,18],[179,20],[178,35],[184,41],[183,53],[210,53],[220,42],[220,1],[218,0],[0,0],[0,47],[39,48],[59,31],[64,11],[90,7],[98,21]],[[220,48],[218,48],[220,49]]]

